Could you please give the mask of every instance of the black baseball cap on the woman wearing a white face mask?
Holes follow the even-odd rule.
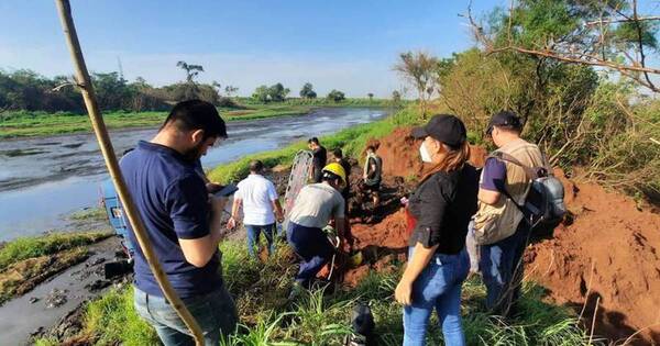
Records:
[[[458,148],[468,139],[468,131],[455,115],[438,114],[433,115],[426,125],[413,129],[413,136],[416,138],[431,136],[452,148]]]

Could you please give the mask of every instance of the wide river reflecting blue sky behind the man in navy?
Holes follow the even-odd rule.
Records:
[[[300,116],[231,122],[229,138],[202,157],[206,168],[385,116],[386,110],[318,109]],[[155,129],[111,133],[121,154]],[[106,167],[90,134],[0,142],[0,241],[64,226],[63,215],[98,203]]]

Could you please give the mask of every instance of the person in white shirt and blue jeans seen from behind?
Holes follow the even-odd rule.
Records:
[[[233,230],[239,219],[239,210],[243,207],[243,225],[248,231],[248,252],[256,257],[255,246],[258,247],[260,234],[263,232],[268,243],[268,256],[275,249],[273,233],[275,221],[284,221],[282,205],[277,198],[275,185],[262,176],[264,164],[260,160],[250,163],[250,176],[239,182],[234,194],[231,217],[227,227]]]

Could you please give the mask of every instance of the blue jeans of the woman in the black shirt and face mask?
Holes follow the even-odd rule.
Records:
[[[414,248],[408,250],[411,258]],[[436,254],[413,283],[413,304],[404,308],[404,346],[425,345],[433,309],[446,345],[465,345],[461,322],[461,288],[468,277],[470,258],[465,249],[457,255]]]

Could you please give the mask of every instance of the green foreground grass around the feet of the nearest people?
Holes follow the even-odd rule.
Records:
[[[224,279],[235,297],[240,332],[223,345],[341,345],[350,330],[355,303],[367,303],[376,319],[380,345],[400,345],[402,309],[393,298],[399,270],[372,271],[355,289],[319,288],[287,303],[295,268],[286,246],[266,263],[250,259],[243,241],[221,245]],[[256,280],[256,281],[255,281]],[[588,335],[578,326],[568,308],[544,303],[543,290],[528,282],[524,288],[520,313],[499,320],[483,311],[485,290],[477,279],[463,289],[463,323],[470,345],[587,345]],[[429,345],[439,345],[440,328],[431,324]],[[86,306],[82,332],[97,345],[156,344],[153,330],[139,319],[132,303],[132,289],[111,291]],[[37,345],[58,341],[42,339]],[[59,341],[62,342],[62,341]],[[41,344],[40,344],[41,343]]]

